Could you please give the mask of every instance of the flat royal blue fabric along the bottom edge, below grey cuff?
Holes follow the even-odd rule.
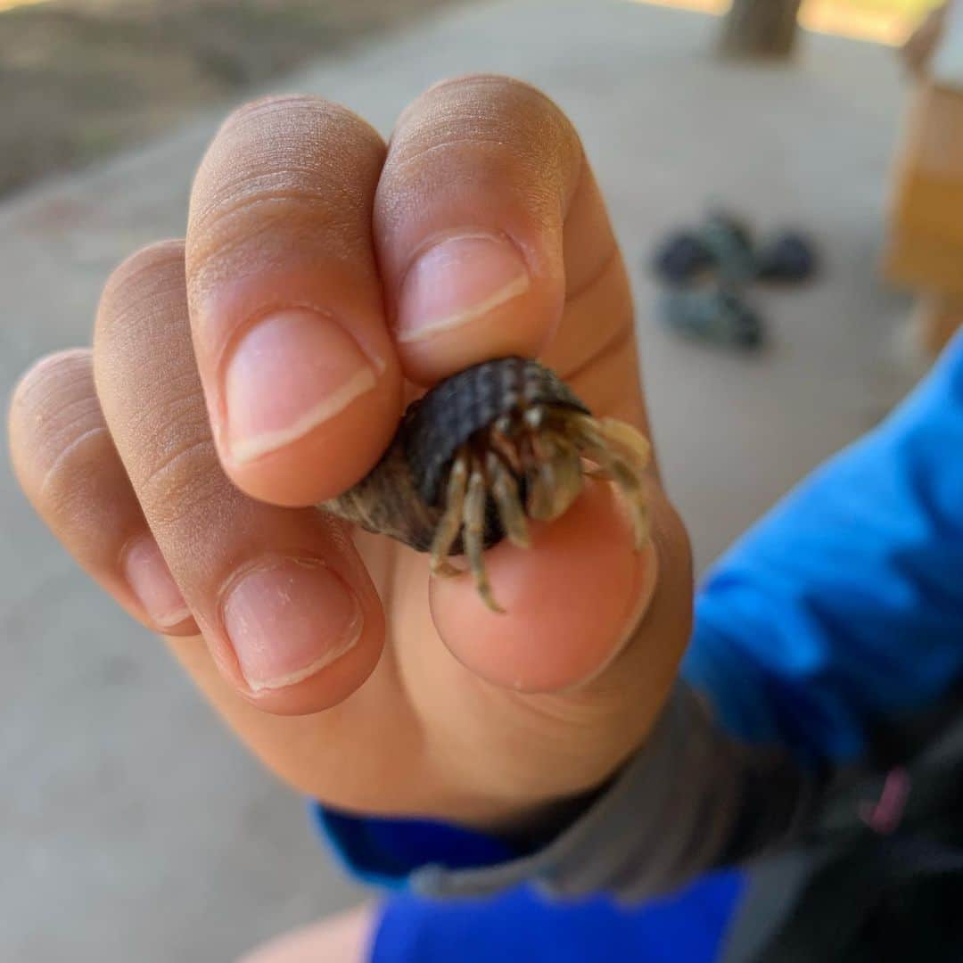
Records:
[[[712,963],[742,895],[736,872],[669,898],[619,908],[603,898],[547,903],[531,888],[491,899],[396,897],[382,912],[372,963]]]

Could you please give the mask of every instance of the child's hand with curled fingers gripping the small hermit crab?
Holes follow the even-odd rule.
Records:
[[[647,433],[625,270],[559,109],[462,78],[386,147],[324,100],[262,100],[208,151],[186,243],[125,262],[93,350],[20,382],[14,462],[66,548],[299,791],[510,824],[611,775],[672,684],[690,558],[657,481],[641,554],[601,482],[533,549],[491,550],[505,615],[305,508],[373,466],[414,386],[510,353]]]

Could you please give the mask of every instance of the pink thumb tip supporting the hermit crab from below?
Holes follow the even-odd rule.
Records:
[[[532,523],[532,547],[503,541],[485,555],[504,614],[471,576],[431,580],[431,612],[455,658],[486,681],[555,692],[598,676],[634,637],[659,581],[658,552],[635,550],[612,486],[593,482],[556,521]]]

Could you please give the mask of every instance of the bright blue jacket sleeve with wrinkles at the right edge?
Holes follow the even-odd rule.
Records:
[[[963,672],[963,335],[877,429],[716,565],[684,675],[719,722],[804,763],[866,748]]]

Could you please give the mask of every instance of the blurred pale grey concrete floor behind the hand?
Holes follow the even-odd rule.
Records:
[[[891,51],[807,38],[791,67],[724,66],[716,22],[629,3],[459,11],[326,61],[288,89],[390,130],[438,78],[513,73],[580,126],[638,291],[666,479],[712,560],[904,389],[887,359],[906,304],[881,288],[887,171],[902,90]],[[183,233],[220,117],[0,207],[0,384],[86,343],[125,254]],[[799,221],[825,273],[770,293],[770,349],[743,358],[652,320],[645,263],[717,197],[763,226]],[[0,473],[0,959],[224,960],[357,898],[273,784],[169,662],[79,574]]]

